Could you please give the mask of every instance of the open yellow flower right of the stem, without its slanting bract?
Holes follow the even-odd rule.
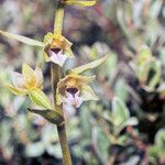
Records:
[[[81,76],[69,74],[57,85],[56,100],[57,105],[66,103],[78,108],[82,101],[98,100],[98,97],[88,85],[95,79],[95,76]]]

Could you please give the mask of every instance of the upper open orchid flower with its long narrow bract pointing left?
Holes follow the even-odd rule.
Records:
[[[44,50],[44,58],[46,62],[53,62],[63,66],[67,58],[74,58],[70,50],[72,43],[61,34],[48,32],[43,42],[32,40],[22,35],[12,34],[0,30],[0,35],[14,38],[31,46],[38,46]]]

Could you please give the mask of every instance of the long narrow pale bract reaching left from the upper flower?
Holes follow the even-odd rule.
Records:
[[[0,35],[7,36],[9,38],[16,40],[19,42],[22,42],[22,43],[31,45],[31,46],[44,47],[44,43],[42,43],[40,41],[36,41],[36,40],[32,40],[32,38],[25,37],[23,35],[18,35],[18,34],[4,32],[2,30],[0,30]]]

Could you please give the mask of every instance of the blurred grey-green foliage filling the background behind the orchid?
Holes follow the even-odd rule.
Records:
[[[53,0],[0,0],[0,29],[42,40],[53,30]],[[98,0],[94,8],[67,7],[64,34],[76,59],[66,68],[105,54],[95,70],[100,100],[67,119],[74,165],[165,164],[165,1]],[[50,65],[42,51],[0,37],[0,164],[61,165],[55,127],[26,108],[4,84],[22,63],[42,64],[51,97]],[[72,111],[72,110],[70,110]]]

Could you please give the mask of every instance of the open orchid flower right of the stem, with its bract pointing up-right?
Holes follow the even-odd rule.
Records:
[[[97,95],[89,86],[96,76],[82,76],[80,74],[99,66],[107,58],[108,55],[86,65],[78,66],[72,69],[66,77],[61,79],[56,89],[57,105],[63,103],[78,108],[84,101],[98,100]]]

